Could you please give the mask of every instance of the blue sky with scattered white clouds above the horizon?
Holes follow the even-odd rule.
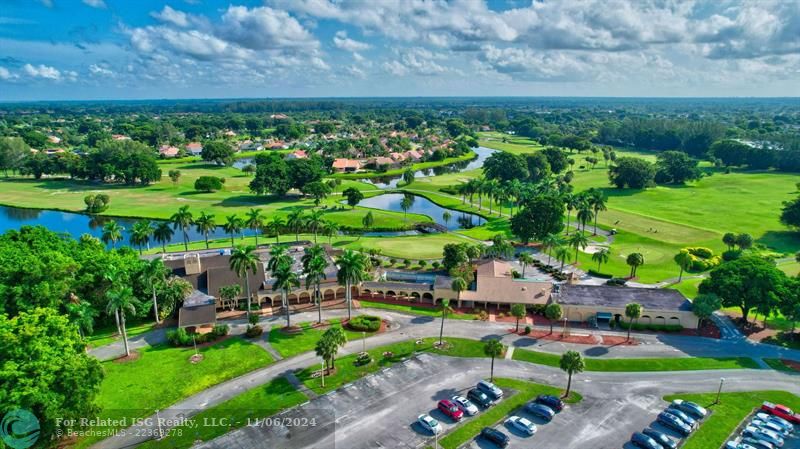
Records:
[[[0,0],[0,101],[798,96],[800,2]]]

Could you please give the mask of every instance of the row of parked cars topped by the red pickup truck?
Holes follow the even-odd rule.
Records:
[[[786,439],[800,424],[800,417],[788,407],[765,402],[742,429],[741,436],[728,441],[726,449],[775,449],[783,447]]]

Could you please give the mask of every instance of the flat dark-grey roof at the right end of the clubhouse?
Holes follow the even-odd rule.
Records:
[[[641,304],[645,310],[692,310],[692,303],[679,291],[670,288],[612,287],[607,285],[562,285],[559,304],[625,308]]]

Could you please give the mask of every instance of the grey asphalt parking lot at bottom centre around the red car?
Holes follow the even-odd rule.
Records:
[[[533,374],[537,380],[535,372],[524,373],[513,366],[508,366],[511,373],[508,368],[496,368],[500,375],[518,373],[517,377],[529,378]],[[488,371],[488,360],[420,354],[280,415],[282,422],[295,425],[244,427],[199,447],[357,449],[432,446],[434,438],[416,423],[417,416],[430,414],[442,423],[446,433],[454,424],[436,409],[437,401],[455,394],[466,395],[478,380],[488,377]],[[542,373],[539,380],[552,383],[562,379]],[[576,388],[580,389],[580,386],[576,385]],[[581,403],[568,406],[547,424],[521,413],[537,424],[538,431],[531,437],[515,433],[502,423],[497,427],[510,436],[511,448],[535,445],[559,449],[619,449],[631,432],[649,425],[665,405],[655,391],[635,389],[624,392],[624,395],[614,391],[607,393],[607,396],[585,396]],[[469,419],[473,418],[465,418]],[[310,425],[312,420],[313,425]],[[468,442],[465,447],[486,449],[493,446],[478,439]]]

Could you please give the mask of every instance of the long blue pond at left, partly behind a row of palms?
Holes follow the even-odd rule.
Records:
[[[103,235],[103,225],[110,220],[114,220],[125,228],[122,240],[125,244],[128,242],[128,230],[133,227],[133,224],[138,221],[135,218],[118,218],[118,217],[101,217],[78,214],[74,212],[60,212],[54,210],[41,210],[41,209],[22,209],[18,207],[0,206],[0,234],[10,230],[19,229],[21,226],[41,225],[54,232],[64,232],[70,236],[78,239],[83,234],[91,234],[97,238]],[[155,223],[156,221],[153,220]],[[245,231],[245,235],[251,235],[252,231]],[[222,228],[217,228],[213,234],[209,234],[209,238],[228,237]],[[197,232],[194,227],[189,230],[189,240],[203,240],[202,234]],[[180,230],[175,231],[172,240],[169,243],[182,243],[183,232]],[[119,244],[119,243],[118,243]],[[150,244],[155,245],[154,243]]]

